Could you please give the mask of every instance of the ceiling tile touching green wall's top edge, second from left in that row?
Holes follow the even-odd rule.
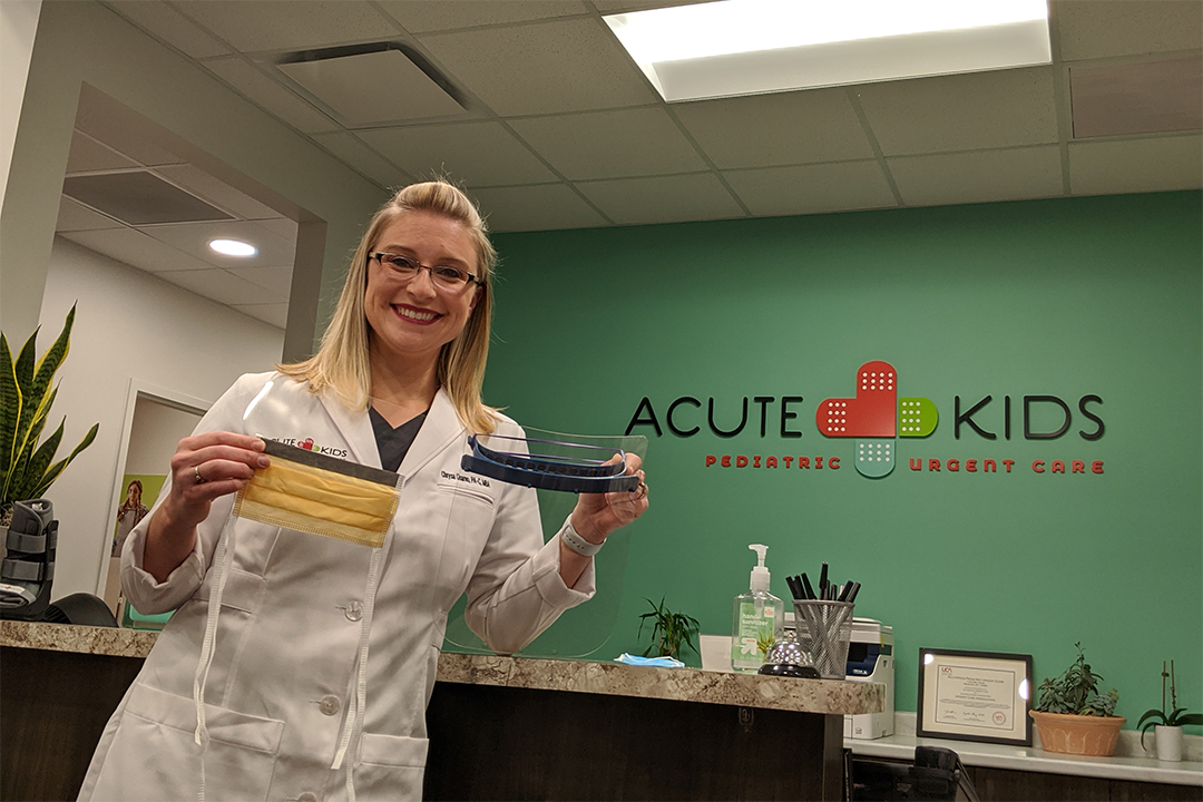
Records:
[[[576,186],[618,225],[747,216],[713,173],[582,182]]]

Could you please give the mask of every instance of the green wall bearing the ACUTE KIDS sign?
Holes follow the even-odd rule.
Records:
[[[787,575],[822,562],[864,584],[857,613],[894,626],[899,709],[915,708],[920,647],[1030,653],[1038,681],[1071,663],[1075,641],[1120,690],[1130,726],[1160,703],[1171,658],[1180,702],[1198,709],[1201,212],[1201,194],[1175,192],[496,237],[486,400],[528,426],[621,434],[647,397],[663,428],[634,430],[650,439],[652,506],[602,565],[616,613],[595,657],[642,650],[645,598],[729,634],[759,541],[780,596]],[[897,467],[877,480],[857,473],[852,440],[814,424],[870,360],[941,416],[930,436],[899,439]],[[988,394],[973,420],[997,438],[967,424],[954,436],[954,397],[964,411]],[[1068,404],[1065,435],[1024,438],[1033,394]],[[1096,440],[1079,434],[1097,428],[1078,409],[1088,394],[1102,399],[1088,404],[1106,426]],[[676,415],[701,427],[688,438],[665,426],[682,396],[703,404]],[[745,396],[745,429],[712,434],[707,399],[729,429]],[[757,396],[776,399],[763,436]],[[801,436],[781,436],[783,396],[804,398],[788,422]],[[1057,427],[1050,411],[1036,405],[1033,429]],[[706,468],[707,455],[841,465]],[[968,473],[967,459],[998,473]],[[1036,474],[1036,459],[1067,473]],[[1074,459],[1085,474],[1069,473]],[[579,635],[557,628],[539,653]]]

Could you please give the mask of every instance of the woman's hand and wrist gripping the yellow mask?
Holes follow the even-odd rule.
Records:
[[[267,468],[259,438],[232,432],[206,432],[179,441],[171,458],[171,493],[150,518],[142,568],[159,582],[188,559],[196,546],[196,525],[213,501],[237,493]]]

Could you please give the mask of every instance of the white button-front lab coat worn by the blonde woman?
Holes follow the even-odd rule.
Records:
[[[247,432],[243,410],[273,380],[280,409]],[[233,430],[379,468],[366,412],[318,397],[279,374],[239,379],[197,430]],[[498,434],[521,436],[504,418]],[[514,652],[564,610],[593,594],[592,566],[567,588],[558,537],[543,541],[533,489],[464,481],[467,432],[439,392],[399,474],[397,515],[381,549],[372,616],[365,616],[374,549],[233,519],[235,551],[221,594],[214,659],[205,685],[209,742],[205,794],[218,800],[420,798],[426,705],[448,612],[467,590],[467,619],[492,649]],[[160,500],[166,498],[165,486]],[[196,798],[202,748],[194,742],[192,682],[205,635],[219,535],[233,498],[213,504],[196,549],[166,582],[142,569],[150,516],[128,539],[122,584],[143,613],[177,610],[113,714],[81,800]],[[363,624],[372,618],[371,628]],[[367,629],[367,631],[363,631]],[[366,709],[342,768],[331,764],[356,696],[361,637],[368,646]]]

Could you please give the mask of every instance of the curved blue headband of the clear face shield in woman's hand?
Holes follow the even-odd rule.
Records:
[[[485,446],[481,442],[482,436],[486,435],[473,434],[468,438],[472,453],[464,455],[461,459],[461,467],[467,471],[510,485],[569,493],[617,493],[630,492],[639,487],[639,477],[626,473],[627,455],[621,450],[534,438],[487,435],[490,441],[526,444],[531,451],[540,446],[555,446],[565,451],[581,450],[571,452],[580,456],[500,451]],[[597,457],[604,455],[604,457],[586,455]]]

